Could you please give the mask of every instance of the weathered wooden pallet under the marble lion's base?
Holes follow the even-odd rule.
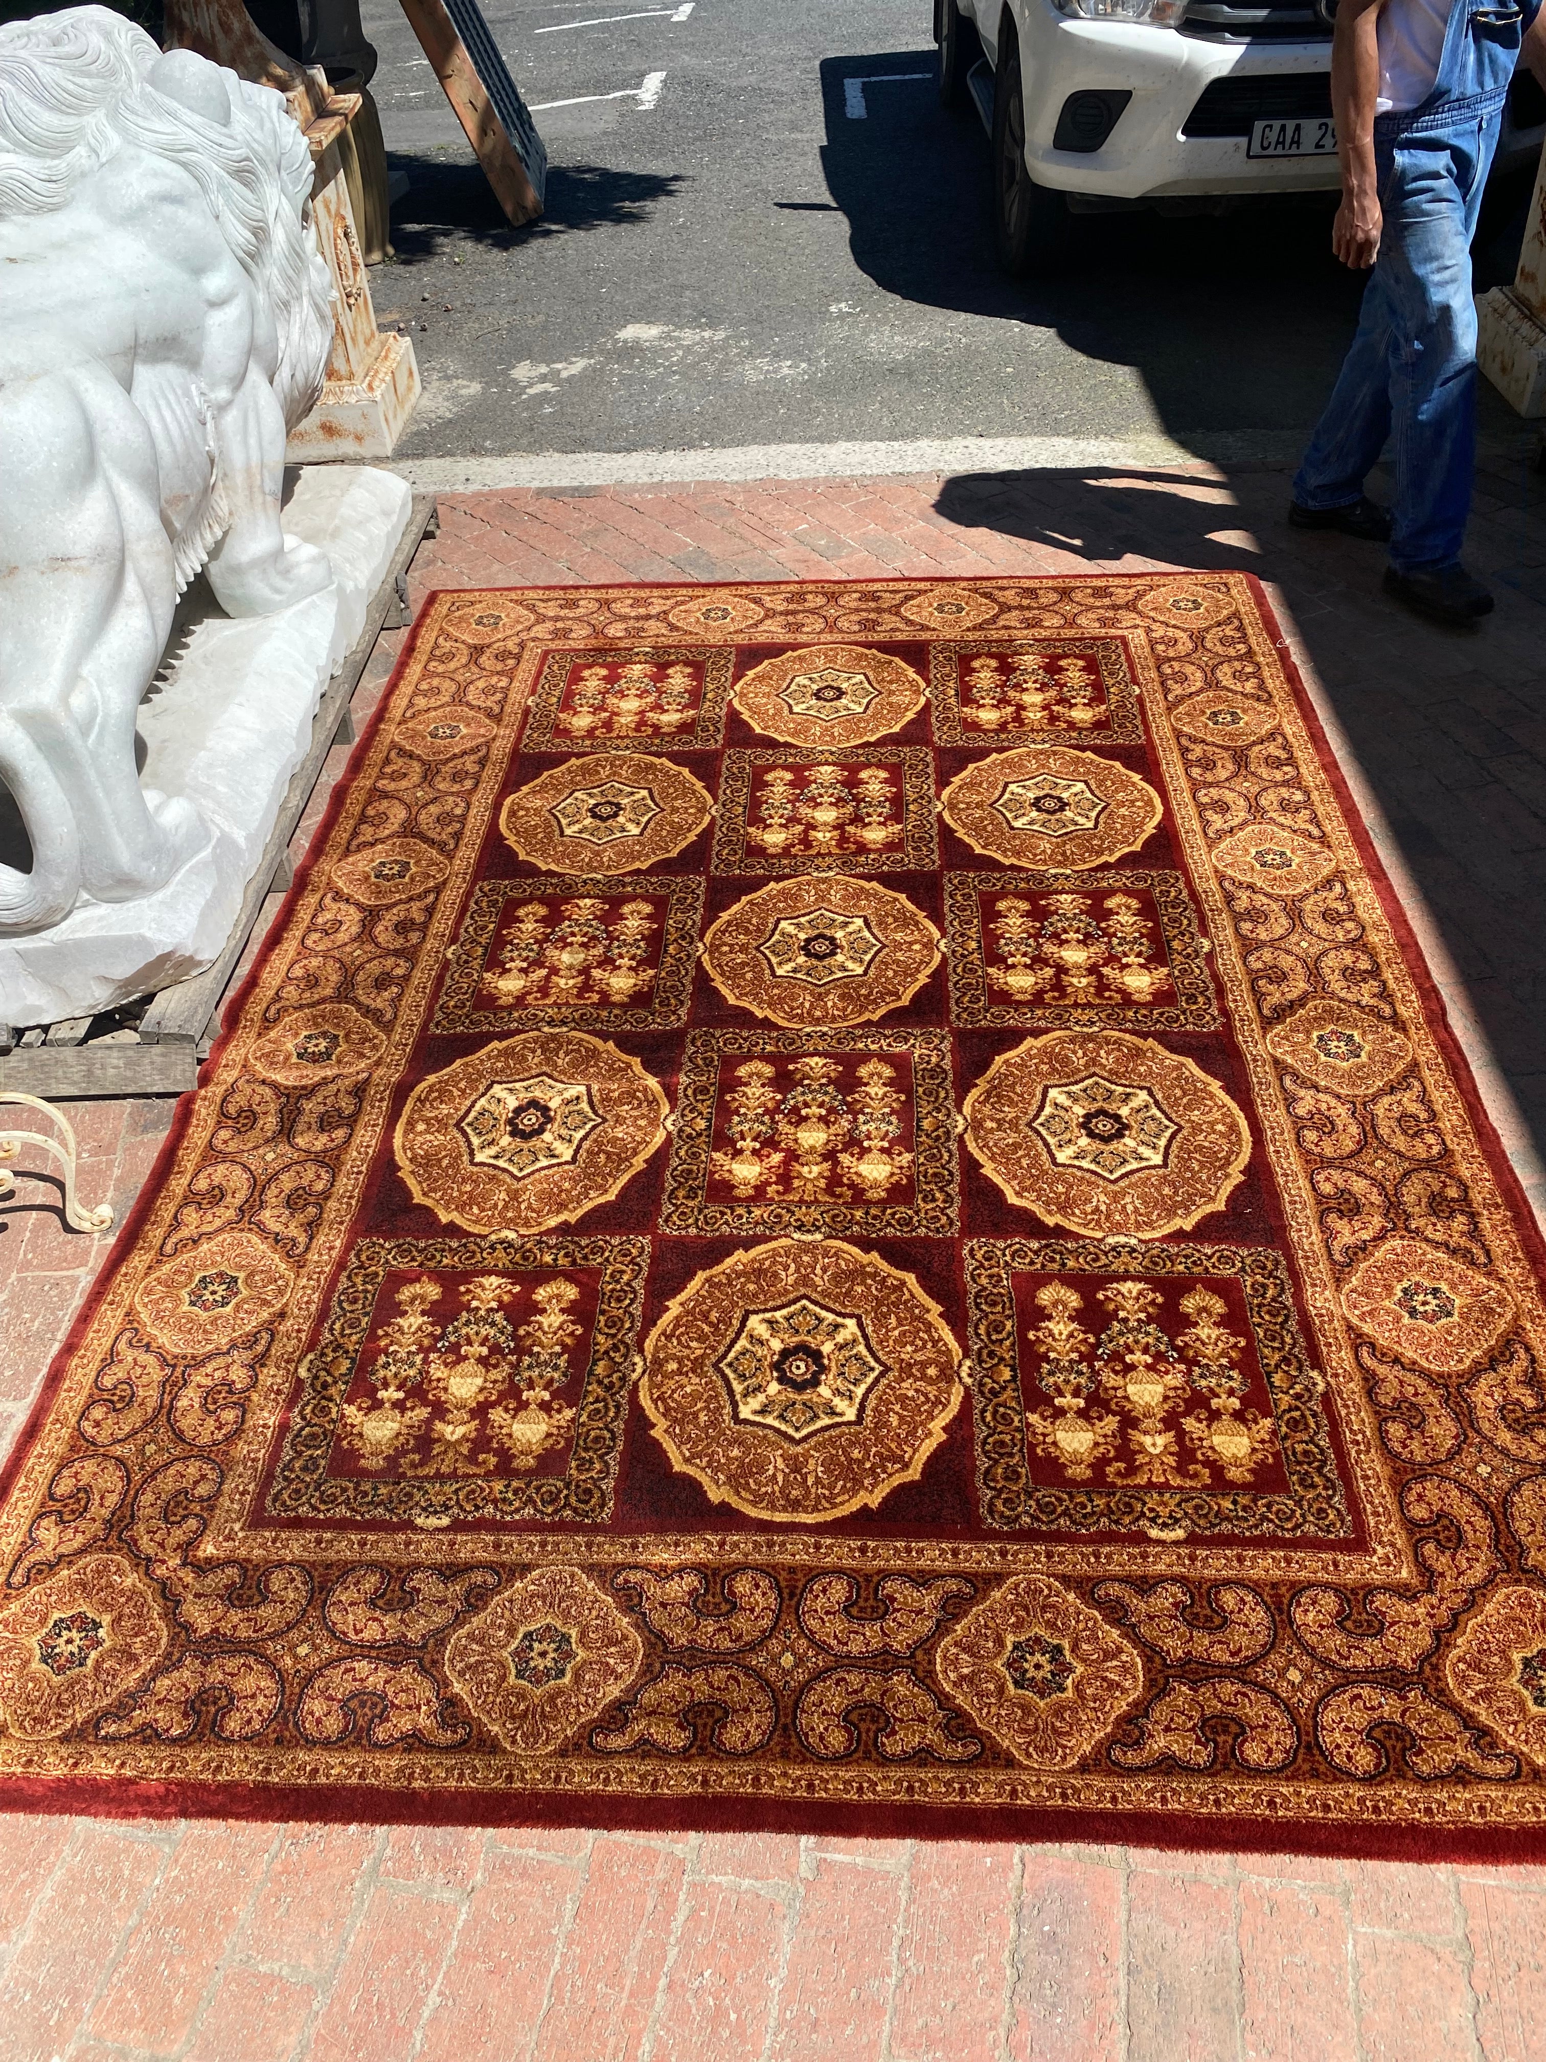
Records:
[[[216,1010],[231,971],[245,951],[264,897],[291,885],[289,843],[317,786],[322,761],[332,746],[350,744],[355,720],[348,713],[359,678],[383,629],[408,621],[408,567],[418,544],[439,530],[433,495],[414,495],[408,528],[385,579],[375,590],[365,629],[344,664],[328,683],[311,722],[311,744],[295,769],[258,870],[247,883],[241,911],[231,926],[221,957],[186,982],[150,996],[136,1027],[91,1037],[99,1017],[70,1017],[64,1023],[12,1031],[0,1025],[0,1093],[45,1095],[70,1101],[87,1095],[183,1095],[198,1083],[198,1064],[219,1031]]]

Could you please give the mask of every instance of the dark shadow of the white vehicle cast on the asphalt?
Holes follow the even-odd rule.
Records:
[[[820,159],[855,264],[905,301],[1051,330],[1086,359],[1132,365],[1181,443],[1229,437],[1243,454],[1286,456],[1330,392],[1363,295],[1363,278],[1330,250],[1336,196],[1210,217],[1084,214],[1072,276],[1006,278],[994,256],[987,138],[973,111],[942,109],[932,80],[913,76],[932,68],[930,45],[822,60]],[[866,120],[851,120],[845,80],[888,74],[911,82],[866,85]],[[1492,196],[1478,291],[1513,278],[1525,200],[1517,179]],[[1216,346],[1206,369],[1200,336]],[[1006,334],[1006,367],[1024,363],[1029,342]],[[1060,425],[1010,414],[983,429]]]

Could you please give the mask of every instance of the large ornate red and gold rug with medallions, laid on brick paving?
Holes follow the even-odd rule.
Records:
[[[1253,581],[441,594],[6,1474],[4,1802],[1538,1856],[1540,1272]]]

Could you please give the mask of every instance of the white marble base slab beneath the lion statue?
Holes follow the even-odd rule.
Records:
[[[82,899],[49,930],[0,938],[0,1021],[91,1017],[216,959],[410,509],[408,485],[392,472],[307,468],[284,532],[328,553],[334,586],[276,617],[231,621],[208,598],[179,617],[140,705],[140,786],[186,796],[208,839],[155,895]]]

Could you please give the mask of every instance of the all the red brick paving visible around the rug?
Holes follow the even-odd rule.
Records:
[[[1286,476],[1167,472],[441,497],[429,588],[1231,567],[1346,738],[1515,1165],[1546,1138],[1546,483],[1482,474],[1474,635]],[[402,637],[357,693],[367,713]],[[328,761],[297,833],[315,827]],[[278,907],[270,899],[266,916]],[[1488,1058],[1494,1056],[1494,1058]],[[120,1221],[173,1103],[80,1103]],[[107,1250],[0,1204],[0,1448]],[[0,1819],[0,2062],[1540,2062],[1546,1868],[963,1843]]]

